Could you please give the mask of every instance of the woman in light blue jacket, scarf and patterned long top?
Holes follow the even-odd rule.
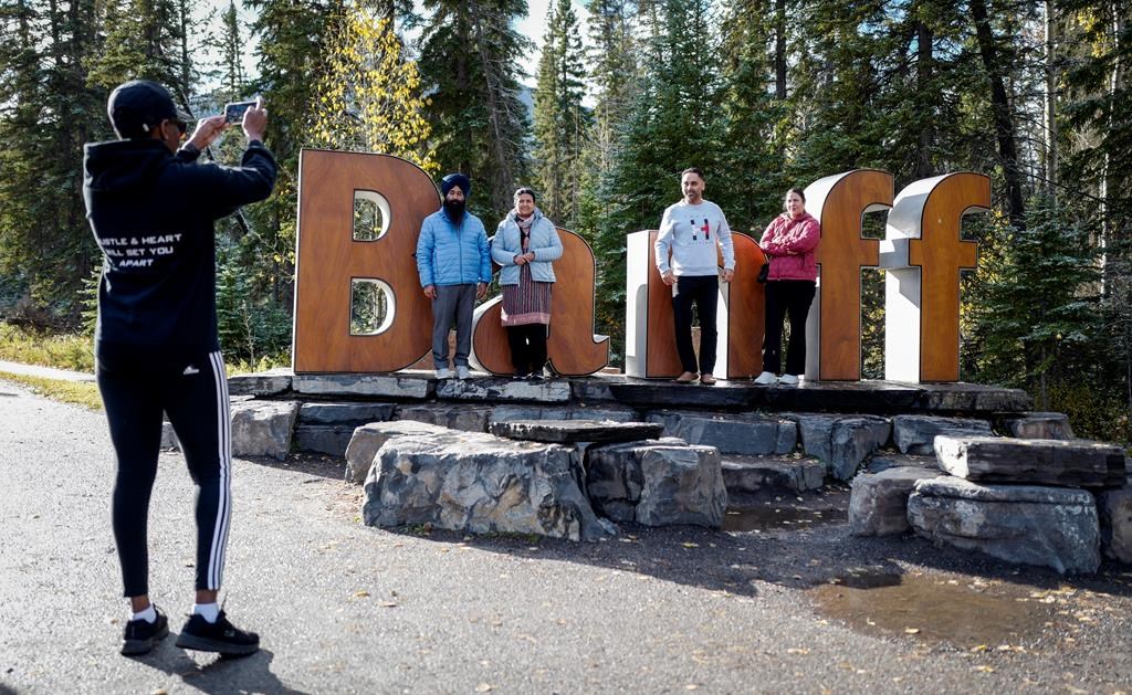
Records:
[[[503,325],[516,379],[542,379],[550,290],[555,283],[550,264],[561,255],[558,231],[534,206],[534,191],[520,188],[515,191],[515,209],[507,213],[491,240],[491,259],[503,266]]]

